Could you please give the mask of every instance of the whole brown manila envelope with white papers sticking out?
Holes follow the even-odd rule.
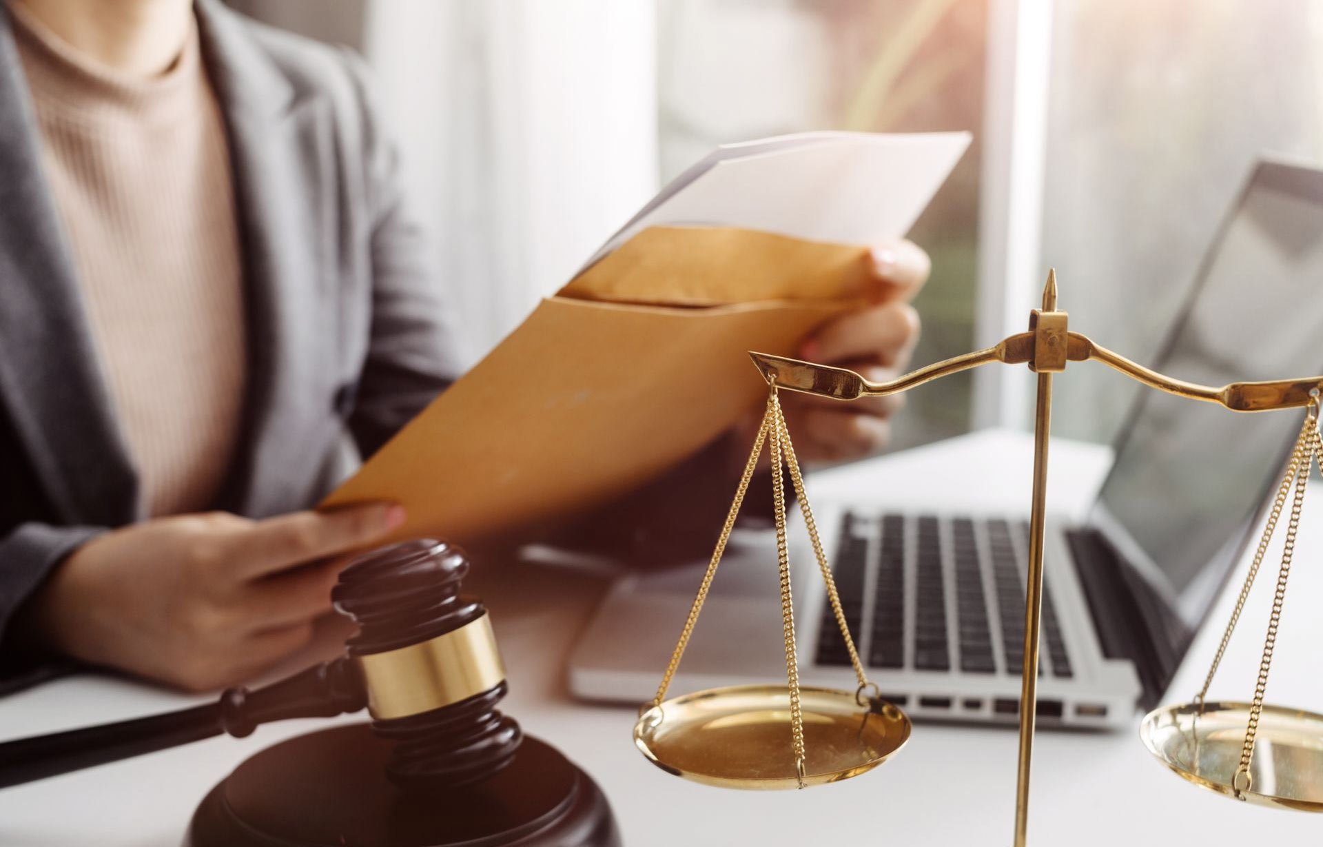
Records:
[[[856,307],[868,250],[659,226],[544,299],[323,507],[392,500],[393,539],[474,544],[658,476],[766,396],[746,351],[792,355]]]

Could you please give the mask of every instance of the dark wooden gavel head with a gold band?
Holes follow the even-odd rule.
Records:
[[[361,672],[373,731],[394,741],[386,764],[405,790],[479,782],[519,749],[519,724],[496,711],[505,670],[487,609],[462,596],[468,558],[434,539],[353,560],[332,590],[359,623],[349,660]]]

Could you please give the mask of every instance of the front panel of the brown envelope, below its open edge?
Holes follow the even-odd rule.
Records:
[[[766,392],[747,349],[789,355],[843,306],[710,310],[544,300],[327,499],[393,500],[398,537],[460,543],[586,508],[695,453]]]

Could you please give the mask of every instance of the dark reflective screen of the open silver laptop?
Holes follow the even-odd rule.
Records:
[[[1216,386],[1304,377],[1323,373],[1320,343],[1323,172],[1261,163],[1155,367]],[[1156,390],[1135,402],[1090,523],[1134,566],[1125,574],[1132,589],[1135,576],[1151,589],[1140,605],[1164,642],[1155,647],[1176,660],[1172,672],[1238,561],[1303,416],[1234,413]]]

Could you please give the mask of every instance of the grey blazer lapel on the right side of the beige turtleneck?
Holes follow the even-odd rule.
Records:
[[[249,308],[247,431],[222,507],[253,516],[306,504],[324,459],[336,300],[325,267],[333,208],[311,143],[327,120],[300,101],[234,12],[196,3],[202,52],[229,126]]]

